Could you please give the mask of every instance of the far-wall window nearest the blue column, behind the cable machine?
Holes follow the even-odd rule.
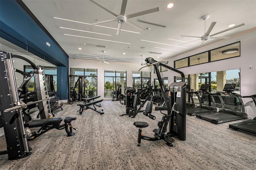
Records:
[[[74,87],[78,76],[85,77],[84,88],[80,92],[82,96],[97,96],[97,69],[70,68],[70,87]],[[78,91],[78,87],[75,90]]]

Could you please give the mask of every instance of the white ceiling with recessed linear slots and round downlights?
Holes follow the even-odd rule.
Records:
[[[256,27],[256,0],[128,0],[125,11],[126,15],[155,7],[159,7],[160,10],[159,12],[129,19],[143,28],[150,28],[150,30],[141,32],[140,30],[125,23],[122,24],[122,30],[138,32],[140,34],[121,31],[120,35],[118,36],[116,35],[115,29],[90,25],[97,22],[96,20],[100,22],[115,19],[116,17],[99,6],[96,6],[89,0],[23,0],[23,2],[42,23],[46,30],[48,30],[52,37],[60,44],[64,51],[68,53],[70,58],[77,58],[79,57],[78,55],[80,55],[87,56],[86,58],[94,60],[95,57],[102,57],[100,56],[103,55],[102,50],[106,51],[104,53],[105,59],[111,57],[111,60],[116,62],[130,62],[120,59],[136,60],[136,58],[137,61],[141,62],[141,55],[144,55],[143,58],[153,57],[157,59],[157,57],[160,57],[157,60],[164,60],[174,57],[180,53],[184,53],[199,47],[198,45],[200,44],[201,40],[198,38],[181,37],[180,35],[202,36],[205,30],[204,20],[202,20],[201,17],[204,15],[210,15],[209,19],[206,20],[206,30],[210,26],[211,22],[217,22],[211,34],[228,29],[230,24],[245,24],[244,26],[224,32],[217,36],[233,36]],[[115,13],[120,13],[121,0],[98,0],[98,2]],[[169,2],[174,4],[173,8],[171,9],[166,8],[166,5]],[[66,20],[56,19],[54,17]],[[166,27],[162,28],[159,26],[137,22],[138,19],[164,25]],[[76,22],[67,20],[73,20]],[[117,21],[98,25],[111,28],[118,27]],[[64,28],[72,28],[76,30]],[[93,34],[90,32],[109,34],[111,36]],[[67,36],[64,34],[73,36]],[[108,42],[89,38],[126,42],[130,44]],[[167,38],[173,40],[169,40]],[[151,42],[145,42],[142,40]],[[175,40],[184,42],[194,40],[198,41],[193,42],[197,45],[191,43],[180,45],[182,42]],[[219,40],[207,40],[202,44],[202,46],[216,41]],[[107,47],[102,48],[85,46],[84,43],[106,45]],[[82,50],[79,50],[79,47],[82,48]],[[145,48],[142,49],[141,47]],[[146,51],[153,51],[162,54],[150,54],[146,53]],[[123,53],[126,54],[124,55]]]

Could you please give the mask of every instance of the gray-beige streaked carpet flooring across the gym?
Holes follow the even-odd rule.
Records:
[[[125,106],[118,101],[103,101],[104,115],[90,109],[77,115],[79,107],[64,104],[56,117],[77,117],[74,136],[65,130],[52,129],[29,141],[32,154],[19,160],[0,155],[0,170],[255,170],[256,136],[230,130],[230,123],[214,125],[187,116],[186,140],[174,137],[173,147],[163,140],[142,140],[137,146],[138,128],[134,121],[145,121],[145,135],[162,114],[153,111],[156,120],[138,113],[136,118],[120,117]],[[239,121],[234,121],[236,123]],[[0,148],[5,149],[4,136]]]

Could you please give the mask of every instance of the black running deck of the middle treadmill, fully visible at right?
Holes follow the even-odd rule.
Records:
[[[202,115],[200,116],[201,119],[204,119],[206,121],[210,121],[214,124],[220,124],[225,122],[231,122],[231,121],[237,121],[241,119],[247,119],[247,117],[240,117],[228,113],[214,113],[214,114],[208,114],[208,115]]]

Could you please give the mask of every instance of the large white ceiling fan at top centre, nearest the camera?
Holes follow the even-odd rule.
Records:
[[[121,5],[121,10],[120,10],[120,14],[116,14],[115,12],[111,11],[110,9],[106,8],[105,6],[103,6],[102,4],[98,3],[95,0],[90,0],[92,3],[96,4],[97,6],[99,6],[100,8],[106,10],[107,12],[109,12],[110,14],[116,16],[116,19],[112,19],[112,20],[106,20],[106,21],[101,21],[101,22],[96,22],[93,23],[92,25],[96,25],[96,24],[102,24],[102,23],[106,23],[106,22],[112,22],[112,21],[117,21],[118,22],[118,28],[117,28],[117,32],[116,35],[120,34],[120,30],[121,30],[121,26],[124,23],[127,23],[141,31],[144,31],[145,28],[142,28],[141,26],[138,26],[137,24],[131,22],[130,20],[128,20],[129,18],[134,18],[136,16],[141,16],[141,15],[145,15],[145,14],[150,14],[152,12],[157,12],[159,11],[159,7],[156,8],[152,8],[152,9],[148,9],[148,10],[144,10],[144,11],[140,11],[140,12],[136,12],[133,14],[129,14],[126,15],[125,14],[125,10],[126,10],[126,4],[127,4],[127,0],[122,0],[122,5]]]

